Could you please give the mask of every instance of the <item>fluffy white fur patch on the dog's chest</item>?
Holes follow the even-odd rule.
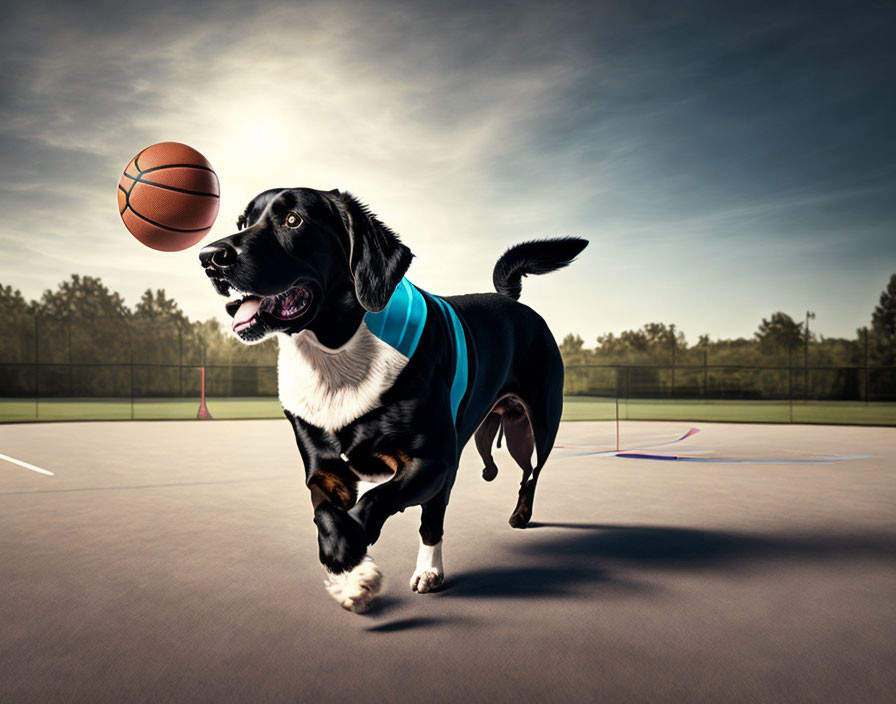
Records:
[[[344,428],[380,405],[408,358],[376,337],[362,321],[338,349],[313,332],[278,335],[280,403],[307,423],[329,432]]]

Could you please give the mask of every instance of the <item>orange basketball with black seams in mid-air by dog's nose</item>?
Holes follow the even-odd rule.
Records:
[[[159,142],[135,156],[118,182],[118,212],[147,247],[179,252],[208,234],[218,216],[218,176],[202,154]]]

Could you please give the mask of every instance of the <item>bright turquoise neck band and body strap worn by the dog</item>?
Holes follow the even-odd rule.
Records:
[[[438,296],[426,294],[438,307],[448,326],[448,334],[454,345],[454,378],[451,381],[451,418],[457,423],[457,409],[467,390],[469,360],[467,359],[467,338],[463,325],[454,309]],[[390,347],[395,348],[410,359],[417,350],[417,344],[426,325],[426,298],[407,279],[402,279],[392,297],[378,313],[365,313],[367,328]]]

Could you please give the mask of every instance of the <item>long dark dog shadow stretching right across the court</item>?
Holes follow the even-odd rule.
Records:
[[[532,540],[513,548],[512,567],[461,572],[446,581],[448,597],[539,597],[572,594],[584,585],[645,590],[623,578],[636,570],[736,570],[775,561],[896,562],[893,534],[751,534],[664,526],[529,524]],[[528,538],[529,536],[527,536]],[[520,552],[521,551],[521,552]]]

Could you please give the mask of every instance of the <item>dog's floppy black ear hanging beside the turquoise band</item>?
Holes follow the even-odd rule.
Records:
[[[414,255],[351,194],[340,193],[334,201],[349,236],[349,269],[358,301],[369,311],[381,311]]]

